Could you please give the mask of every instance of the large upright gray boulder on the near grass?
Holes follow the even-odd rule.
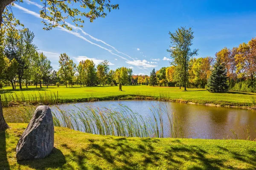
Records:
[[[38,106],[16,147],[18,161],[42,159],[49,155],[54,144],[52,112],[48,106]]]

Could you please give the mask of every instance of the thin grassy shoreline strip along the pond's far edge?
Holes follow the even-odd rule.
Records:
[[[225,108],[241,108],[248,110],[256,110],[256,105],[250,106],[249,103],[230,103],[225,101],[218,101],[216,103],[207,102],[204,100],[185,100],[185,99],[167,99],[165,97],[156,96],[144,96],[144,95],[117,95],[117,96],[105,96],[105,97],[89,97],[82,99],[60,99],[60,101],[49,101],[48,103],[43,103],[44,105],[59,105],[59,104],[69,104],[69,103],[79,103],[79,102],[97,102],[97,101],[115,101],[115,100],[152,100],[152,101],[164,101],[164,102],[178,102],[186,103],[192,105],[206,105],[214,107],[225,107]],[[27,103],[27,102],[10,102],[8,107],[13,107],[17,105],[40,105],[42,103]],[[3,106],[5,108],[6,106]]]

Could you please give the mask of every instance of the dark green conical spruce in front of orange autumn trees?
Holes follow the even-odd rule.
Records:
[[[207,82],[209,92],[225,92],[228,90],[227,85],[227,70],[224,63],[217,59],[212,74]]]

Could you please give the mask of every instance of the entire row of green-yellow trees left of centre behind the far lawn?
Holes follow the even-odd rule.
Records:
[[[107,60],[95,65],[93,60],[85,60],[76,65],[67,54],[59,56],[59,69],[53,70],[47,57],[38,52],[33,44],[34,33],[29,29],[7,31],[0,34],[0,84],[12,85],[16,89],[22,85],[122,85],[134,84],[131,68],[109,69]]]

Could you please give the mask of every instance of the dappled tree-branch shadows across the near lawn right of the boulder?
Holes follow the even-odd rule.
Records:
[[[111,140],[113,138],[110,138]],[[135,145],[131,145],[134,139],[118,138],[110,141],[103,140],[88,140],[87,147],[81,147],[81,150],[73,150],[67,144],[61,146],[72,153],[72,159],[78,163],[79,169],[90,169],[84,162],[90,162],[93,169],[104,169],[102,163],[95,163],[90,159],[105,160],[108,167],[115,167],[115,169],[135,169],[143,167],[166,167],[167,169],[180,169],[186,166],[186,162],[191,162],[191,166],[187,167],[190,170],[220,170],[220,169],[236,169],[230,165],[226,165],[227,157],[230,155],[233,159],[246,162],[251,167],[256,167],[256,151],[249,150],[247,156],[241,155],[234,151],[221,149],[218,157],[212,158],[208,150],[195,145],[183,144],[180,140],[174,140],[175,144],[169,144],[162,150],[156,149],[154,145],[159,142],[159,139],[140,139]],[[138,156],[139,155],[139,156]],[[222,156],[221,156],[222,155]],[[254,157],[254,158],[253,158]],[[165,165],[163,165],[165,163]],[[104,163],[106,164],[106,163]],[[100,166],[100,167],[99,167]],[[139,168],[140,169],[140,168]],[[250,168],[248,168],[250,169]]]

